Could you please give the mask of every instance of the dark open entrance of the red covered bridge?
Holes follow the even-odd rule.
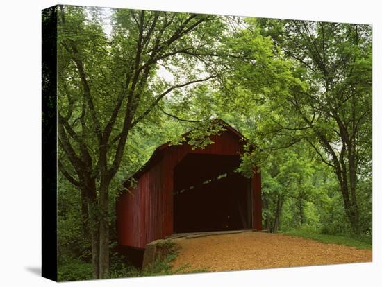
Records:
[[[250,180],[240,157],[188,154],[174,169],[174,233],[251,228]]]

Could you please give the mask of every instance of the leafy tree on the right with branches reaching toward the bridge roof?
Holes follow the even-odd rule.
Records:
[[[241,45],[252,59],[233,63],[228,81],[235,83],[230,90],[239,105],[246,103],[254,126],[254,160],[261,162],[260,151],[264,159],[306,141],[333,168],[347,218],[359,234],[357,186],[362,170],[371,165],[371,28],[249,19],[242,37],[253,42],[259,29],[274,43],[272,50],[258,54]]]

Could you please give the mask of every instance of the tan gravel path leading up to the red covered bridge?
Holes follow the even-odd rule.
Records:
[[[372,250],[283,234],[244,232],[174,241],[181,245],[174,269],[189,265],[229,271],[372,261]]]

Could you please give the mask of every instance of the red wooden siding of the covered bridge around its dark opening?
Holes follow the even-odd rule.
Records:
[[[124,192],[117,201],[117,234],[120,245],[144,248],[147,243],[172,234],[174,168],[185,155],[240,155],[242,152],[240,136],[231,130],[211,139],[214,143],[204,149],[192,150],[188,144],[182,144],[163,146],[156,150],[156,161],[149,162],[149,166],[135,178],[138,181],[136,187],[130,189],[133,195]],[[255,229],[261,229],[260,174],[255,175],[251,182],[252,225]]]

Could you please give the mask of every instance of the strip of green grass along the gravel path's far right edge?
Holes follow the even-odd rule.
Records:
[[[292,236],[313,239],[322,243],[335,243],[356,247],[358,249],[372,249],[371,238],[354,238],[354,236],[339,236],[331,234],[322,234],[311,228],[291,229],[281,232]]]

